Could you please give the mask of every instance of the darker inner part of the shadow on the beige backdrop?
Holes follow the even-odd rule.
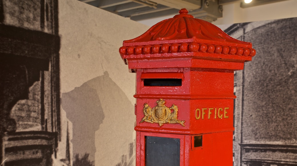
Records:
[[[99,76],[97,78],[104,81],[103,77]],[[80,87],[75,87],[70,92],[63,93],[61,105],[73,125],[71,140],[73,156],[87,153],[89,159],[94,161],[96,152],[95,131],[99,129],[99,125],[103,122],[104,113],[97,90],[90,87],[88,82]],[[98,84],[101,83],[98,82]]]

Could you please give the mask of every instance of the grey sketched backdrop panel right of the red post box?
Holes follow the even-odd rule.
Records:
[[[223,29],[257,51],[235,71],[234,166],[297,165],[296,25],[287,18]]]

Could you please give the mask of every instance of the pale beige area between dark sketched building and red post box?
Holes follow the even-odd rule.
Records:
[[[122,155],[135,163],[135,152],[129,156],[135,74],[124,65],[119,47],[148,29],[77,0],[59,1],[62,113],[72,123],[73,151],[96,151],[89,157],[96,165],[115,166]]]

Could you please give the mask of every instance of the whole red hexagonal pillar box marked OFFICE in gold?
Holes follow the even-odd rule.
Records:
[[[136,72],[136,165],[231,166],[233,72],[255,50],[179,13],[119,50]]]

